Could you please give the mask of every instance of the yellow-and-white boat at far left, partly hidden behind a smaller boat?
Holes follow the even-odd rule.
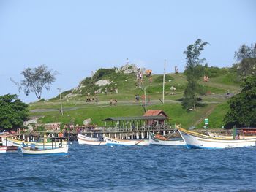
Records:
[[[26,147],[31,147],[32,144],[35,144],[37,148],[39,149],[51,149],[52,148],[52,143],[48,142],[45,139],[39,140],[37,142],[27,142],[27,141],[22,141],[18,139],[13,139],[12,137],[3,137],[2,138],[3,145],[5,146],[17,146],[17,147],[22,147],[23,144],[26,145]],[[56,142],[56,145],[59,145],[59,142]],[[63,141],[62,145],[67,145],[67,141]]]

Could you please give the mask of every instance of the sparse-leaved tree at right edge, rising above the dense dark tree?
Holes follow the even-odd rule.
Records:
[[[234,57],[236,61],[239,61],[233,65],[239,77],[256,74],[256,43],[252,44],[251,47],[241,45],[238,52],[235,52]]]

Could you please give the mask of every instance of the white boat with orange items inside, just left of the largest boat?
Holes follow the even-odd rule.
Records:
[[[182,138],[165,138],[159,134],[149,133],[149,144],[150,145],[185,145]]]

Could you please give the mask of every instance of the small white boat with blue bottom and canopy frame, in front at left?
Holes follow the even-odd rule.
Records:
[[[67,144],[67,142],[66,142],[66,145],[62,145],[64,138],[53,137],[48,139],[51,139],[51,143],[52,143],[52,147],[50,149],[45,149],[45,148],[39,149],[33,143],[31,144],[30,147],[26,147],[26,145],[23,145],[23,147],[20,147],[21,153],[23,155],[67,155],[69,150],[69,145]],[[59,143],[59,145],[57,145],[57,143]]]

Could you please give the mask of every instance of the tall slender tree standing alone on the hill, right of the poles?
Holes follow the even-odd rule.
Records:
[[[206,45],[208,45],[208,42],[202,42],[201,39],[197,39],[195,44],[189,45],[187,51],[184,51],[187,59],[185,71],[187,75],[187,87],[184,90],[182,106],[187,110],[195,110],[195,107],[198,105],[196,93],[202,92],[202,87],[198,84],[198,80],[200,80],[204,69],[201,64],[203,64],[206,59],[200,59],[199,56],[203,51],[203,47]]]

